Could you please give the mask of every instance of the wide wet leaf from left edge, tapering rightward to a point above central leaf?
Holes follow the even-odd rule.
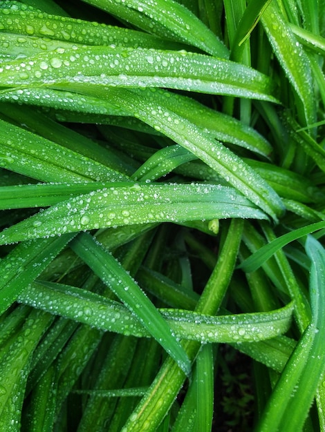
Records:
[[[0,166],[41,181],[125,181],[97,161],[0,119]]]

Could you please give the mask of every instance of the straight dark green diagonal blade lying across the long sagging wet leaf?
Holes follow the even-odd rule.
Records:
[[[191,363],[183,347],[171,334],[167,322],[149,298],[115,258],[100,244],[97,244],[90,235],[79,235],[71,247],[138,317],[141,324],[165,348],[180,369],[189,375]]]

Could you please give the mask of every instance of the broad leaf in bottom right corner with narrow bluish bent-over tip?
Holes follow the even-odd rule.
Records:
[[[295,432],[303,428],[325,370],[325,251],[313,237],[306,241],[310,266],[312,320],[279,377],[257,431]]]

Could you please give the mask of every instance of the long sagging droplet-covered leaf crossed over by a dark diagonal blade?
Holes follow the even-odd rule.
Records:
[[[151,332],[125,306],[82,288],[38,281],[18,301],[93,328],[136,337]],[[237,315],[204,315],[178,309],[158,309],[176,337],[198,342],[236,343],[268,340],[290,327],[293,304],[274,311]]]

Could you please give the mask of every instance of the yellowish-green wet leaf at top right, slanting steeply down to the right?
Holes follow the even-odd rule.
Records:
[[[307,126],[315,123],[313,75],[306,52],[297,43],[295,35],[281,16],[275,1],[271,1],[266,8],[261,21],[279,63],[302,101]]]

